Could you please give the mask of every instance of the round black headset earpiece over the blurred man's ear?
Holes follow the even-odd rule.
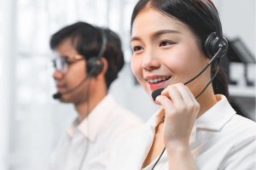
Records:
[[[87,60],[87,73],[89,77],[96,77],[103,70],[104,64],[102,59],[98,59],[96,57],[92,57]]]

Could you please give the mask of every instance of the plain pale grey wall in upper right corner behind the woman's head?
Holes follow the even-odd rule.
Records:
[[[241,37],[255,56],[255,0],[218,0],[225,36]]]

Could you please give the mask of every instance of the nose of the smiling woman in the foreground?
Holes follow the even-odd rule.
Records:
[[[143,57],[143,69],[147,71],[152,71],[160,67],[160,62],[154,50],[148,50],[148,52]]]

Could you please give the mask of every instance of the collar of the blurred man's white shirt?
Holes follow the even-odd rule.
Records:
[[[113,97],[108,94],[96,105],[83,122],[79,123],[78,118],[73,122],[73,125],[67,130],[68,136],[73,137],[75,133],[82,133],[84,137],[94,141],[97,134],[101,131],[103,122],[108,119],[109,113],[113,111],[116,105]]]

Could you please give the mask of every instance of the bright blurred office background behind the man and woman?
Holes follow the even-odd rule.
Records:
[[[213,0],[230,41],[224,66],[236,111],[255,121],[254,0]],[[49,37],[83,20],[118,32],[125,68],[110,94],[144,121],[158,108],[130,69],[130,18],[137,0],[0,0],[0,170],[45,170],[51,151],[76,116],[52,99]],[[136,98],[134,98],[136,96]],[[147,105],[147,107],[145,107]]]

